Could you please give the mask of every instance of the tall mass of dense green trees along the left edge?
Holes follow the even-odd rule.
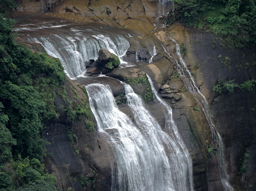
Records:
[[[58,59],[14,43],[13,21],[0,6],[0,190],[57,190],[41,160],[45,123],[56,119],[54,90],[64,83]]]

